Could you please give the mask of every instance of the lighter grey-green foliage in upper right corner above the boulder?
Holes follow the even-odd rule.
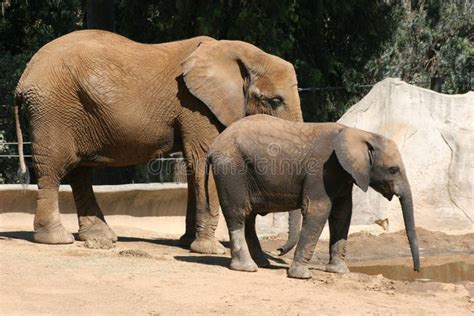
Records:
[[[472,90],[474,3],[434,1],[398,14],[400,23],[393,40],[367,63],[367,72],[376,79],[401,77],[408,82],[443,77],[445,93]]]

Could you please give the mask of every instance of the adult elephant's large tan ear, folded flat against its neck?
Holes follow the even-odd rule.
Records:
[[[187,88],[224,126],[243,118],[246,112],[248,72],[232,42],[203,42],[182,62]]]

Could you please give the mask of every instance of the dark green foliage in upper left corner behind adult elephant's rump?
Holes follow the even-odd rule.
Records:
[[[4,2],[0,18],[0,104],[11,104],[13,90],[31,56],[56,37],[80,29],[81,19],[79,0]]]

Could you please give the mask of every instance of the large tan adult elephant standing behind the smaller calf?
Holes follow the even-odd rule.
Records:
[[[215,189],[204,195],[206,152],[240,118],[266,113],[302,121],[293,66],[240,41],[195,37],[141,44],[86,30],[62,36],[31,59],[15,91],[31,130],[38,198],[34,240],[72,243],[60,221],[58,187],[69,175],[81,240],[115,241],[94,197],[91,167],[145,163],[183,151],[188,168],[184,241],[201,253],[222,253],[215,239]],[[212,186],[214,187],[214,186]],[[197,237],[196,237],[197,236]]]

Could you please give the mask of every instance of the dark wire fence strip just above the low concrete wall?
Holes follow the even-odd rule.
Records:
[[[31,171],[31,142],[24,142],[23,144],[25,148],[25,161]],[[17,142],[0,142],[0,177],[5,177],[5,172],[8,172],[5,170],[10,170],[10,173],[16,170],[19,158],[17,149]],[[170,157],[153,159],[146,164],[138,166],[94,168],[93,183],[98,185],[165,182],[186,183],[187,168],[182,154],[178,152],[169,156]],[[8,178],[11,179],[12,176]],[[32,175],[31,179],[32,183],[36,182],[34,175]],[[64,182],[67,183],[67,178]],[[7,181],[7,183],[14,182]]]

